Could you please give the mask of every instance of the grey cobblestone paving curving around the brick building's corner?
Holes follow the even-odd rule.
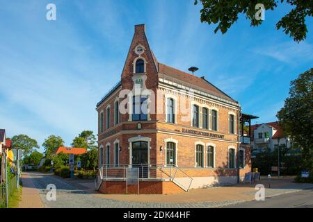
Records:
[[[29,177],[33,180],[33,184],[38,189],[42,203],[47,208],[208,208],[208,207],[222,207],[225,205],[233,205],[236,203],[243,203],[247,200],[225,200],[225,201],[212,201],[200,203],[143,203],[143,202],[130,202],[125,200],[111,200],[108,198],[100,198],[90,194],[87,187],[79,185],[79,183],[63,178],[47,175],[44,173],[29,173]],[[46,198],[48,190],[47,185],[56,185],[56,201],[48,201]],[[312,187],[312,185],[311,185]],[[266,197],[276,196],[280,194],[287,194],[300,189],[266,189]],[[303,186],[307,189],[308,186]],[[255,193],[250,192],[254,196]]]

